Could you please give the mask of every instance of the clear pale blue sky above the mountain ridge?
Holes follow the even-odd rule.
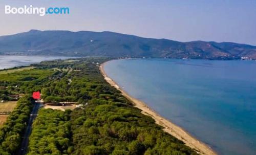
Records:
[[[69,7],[66,15],[5,14],[12,7]],[[1,0],[0,35],[37,30],[112,31],[177,41],[256,46],[255,0]]]

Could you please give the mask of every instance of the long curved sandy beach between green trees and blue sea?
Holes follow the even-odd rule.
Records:
[[[165,132],[183,141],[186,144],[186,146],[189,146],[190,148],[195,149],[198,153],[206,154],[206,155],[217,155],[217,153],[214,150],[212,150],[208,145],[204,144],[203,142],[200,142],[198,139],[188,134],[188,132],[186,132],[184,129],[182,129],[178,125],[160,116],[153,109],[148,107],[143,101],[133,98],[124,90],[122,90],[122,88],[120,88],[117,85],[117,83],[114,80],[112,80],[110,77],[108,77],[108,75],[105,73],[103,69],[105,63],[106,62],[100,64],[100,67],[99,67],[100,73],[104,77],[104,80],[108,82],[110,85],[114,86],[117,90],[119,90],[124,97],[126,97],[128,100],[130,100],[134,104],[135,107],[141,109],[142,114],[151,116],[156,121],[156,124],[164,127],[163,130]]]

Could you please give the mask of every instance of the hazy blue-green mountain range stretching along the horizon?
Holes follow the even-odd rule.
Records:
[[[0,37],[0,54],[256,59],[256,46],[143,38],[114,32],[38,31]]]

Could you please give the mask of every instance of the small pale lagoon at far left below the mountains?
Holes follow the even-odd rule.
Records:
[[[49,61],[55,59],[68,59],[72,57],[65,56],[6,56],[0,55],[0,70],[13,68],[21,65],[30,65],[41,61]]]

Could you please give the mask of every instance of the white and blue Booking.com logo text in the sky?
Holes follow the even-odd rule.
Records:
[[[40,16],[45,16],[46,14],[69,14],[69,8],[50,7],[46,9],[44,7],[33,7],[32,5],[16,8],[6,5],[5,14],[38,14]]]

